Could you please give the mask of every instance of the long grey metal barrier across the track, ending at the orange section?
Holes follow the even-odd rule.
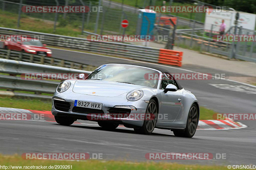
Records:
[[[26,30],[18,30],[12,28],[0,27],[0,34],[3,35],[30,35],[30,36],[44,36],[44,43],[52,46],[82,49],[96,53],[103,53],[114,56],[122,56],[140,61],[159,63],[159,49],[136,46],[132,44],[119,42],[102,42],[102,41],[88,41],[84,38],[63,36],[49,33],[39,33]],[[54,55],[54,54],[53,54]],[[180,61],[181,62],[181,61]],[[177,65],[175,62],[168,62],[165,64]],[[181,64],[180,64],[181,65]]]

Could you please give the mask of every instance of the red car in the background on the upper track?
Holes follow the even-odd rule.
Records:
[[[35,39],[28,39],[28,41],[4,41],[4,48],[22,51],[30,54],[52,56],[52,50],[45,47],[46,44],[42,44],[41,41]]]

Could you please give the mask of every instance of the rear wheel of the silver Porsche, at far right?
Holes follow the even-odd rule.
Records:
[[[193,137],[196,133],[198,124],[198,109],[196,104],[190,107],[185,130],[173,130],[173,134],[177,137]]]

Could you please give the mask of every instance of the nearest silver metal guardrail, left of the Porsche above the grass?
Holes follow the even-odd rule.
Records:
[[[0,75],[0,88],[13,91],[35,92],[34,97],[40,97],[38,94],[53,94],[60,81],[51,80],[26,80],[19,75],[25,73],[85,73],[91,71],[62,68],[36,63],[27,63],[8,59],[0,59],[0,73],[10,75]],[[18,75],[18,76],[17,76]],[[19,93],[20,96],[33,96],[33,94]],[[45,95],[42,98],[47,98]],[[49,97],[51,98],[51,96]]]

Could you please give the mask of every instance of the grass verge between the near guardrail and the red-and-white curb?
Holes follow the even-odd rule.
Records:
[[[52,102],[51,100],[0,97],[0,106],[30,110],[51,110]],[[211,120],[215,113],[213,110],[200,107],[200,120]]]

